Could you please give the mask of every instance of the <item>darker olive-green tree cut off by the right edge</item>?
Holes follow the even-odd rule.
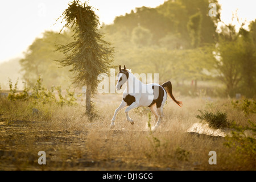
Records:
[[[253,40],[253,23],[250,31],[241,24],[236,32],[232,24],[225,24],[216,49],[216,69],[219,78],[226,85],[226,92],[233,97],[235,93],[242,93],[247,97],[255,95],[256,87],[256,53]]]

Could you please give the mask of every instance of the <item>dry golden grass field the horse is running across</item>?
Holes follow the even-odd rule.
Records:
[[[98,117],[89,121],[84,101],[76,106],[0,100],[0,170],[255,170],[255,152],[225,146],[231,129],[212,130],[195,116],[200,110],[225,111],[229,121],[247,126],[255,114],[234,109],[232,99],[177,97],[164,106],[164,119],[152,133],[154,115],[146,107],[134,109],[126,121],[122,110],[110,130],[120,94],[94,97]],[[250,135],[250,133],[249,133]],[[255,144],[255,143],[254,143]],[[255,147],[255,146],[254,146]],[[247,150],[247,149],[246,149]],[[253,150],[253,149],[252,149]],[[46,165],[38,152],[46,152]],[[217,164],[210,165],[209,151]]]

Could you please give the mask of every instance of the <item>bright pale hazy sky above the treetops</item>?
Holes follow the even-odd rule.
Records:
[[[63,26],[53,25],[56,19],[68,7],[71,0],[12,0],[0,1],[0,62],[22,56],[27,47],[44,30],[59,31]],[[135,7],[156,7],[164,0],[90,0],[100,21],[113,23],[115,16],[130,13]],[[254,0],[219,0],[222,5],[222,20],[228,23],[232,11],[238,9],[238,16],[248,21],[256,18]],[[209,9],[208,7],[206,7]]]

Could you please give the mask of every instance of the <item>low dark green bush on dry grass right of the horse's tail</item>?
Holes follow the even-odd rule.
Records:
[[[230,123],[227,120],[227,114],[222,113],[221,111],[217,111],[215,114],[209,113],[208,111],[199,110],[201,115],[196,115],[196,118],[201,119],[201,121],[205,121],[209,124],[209,127],[213,129],[222,129],[225,127],[229,127]]]

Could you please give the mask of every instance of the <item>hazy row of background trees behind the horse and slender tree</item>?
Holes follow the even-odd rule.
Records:
[[[216,3],[216,16],[208,15],[209,3]],[[126,65],[134,73],[159,73],[160,82],[172,81],[183,95],[206,90],[210,96],[255,97],[256,20],[250,22],[249,30],[240,22],[238,32],[224,23],[217,32],[218,22],[216,0],[176,0],[156,8],[138,7],[98,31],[115,48],[114,65]],[[71,84],[68,71],[72,68],[58,68],[54,60],[64,57],[56,45],[73,42],[72,35],[71,30],[46,31],[35,39],[19,61],[28,85],[39,76],[48,88]]]

